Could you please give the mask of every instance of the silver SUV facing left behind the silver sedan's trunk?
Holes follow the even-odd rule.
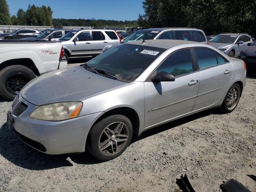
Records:
[[[237,57],[253,41],[247,33],[221,33],[212,38],[209,43],[228,56]]]

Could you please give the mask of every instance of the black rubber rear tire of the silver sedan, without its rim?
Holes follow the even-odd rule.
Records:
[[[231,91],[232,89],[234,89],[234,88],[237,89],[237,92],[238,92],[238,94],[237,94],[237,102],[235,103],[234,106],[232,106],[232,108],[228,108],[228,104],[227,104],[227,103],[228,103],[228,96],[229,96],[229,94],[230,94],[230,91]],[[230,89],[228,90],[228,92],[227,92],[227,94],[226,94],[226,96],[225,96],[225,98],[224,98],[224,101],[222,102],[222,105],[220,106],[220,111],[221,111],[222,113],[224,113],[224,114],[230,113],[230,112],[234,111],[235,108],[236,108],[236,106],[238,105],[240,96],[241,96],[241,87],[240,87],[239,84],[235,83],[235,84],[233,84],[233,85],[230,87]]]

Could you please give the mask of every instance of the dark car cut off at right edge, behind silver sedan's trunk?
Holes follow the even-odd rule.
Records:
[[[256,67],[256,41],[241,51],[238,58],[244,60],[247,66]]]

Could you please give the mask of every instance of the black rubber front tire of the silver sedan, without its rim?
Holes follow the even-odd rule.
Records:
[[[113,154],[111,154],[111,153],[104,154],[102,152],[103,150],[100,150],[100,141],[101,141],[102,135],[105,134],[104,130],[106,130],[107,127],[110,127],[115,122],[122,123],[122,124],[124,124],[124,126],[126,126],[124,128],[125,129],[127,128],[127,130],[128,130],[127,140],[125,143],[121,142],[122,146],[121,146],[120,150],[117,150],[117,148],[116,148],[116,153],[113,152]],[[130,122],[130,120],[126,116],[123,116],[123,115],[111,115],[111,116],[108,116],[108,117],[100,120],[98,123],[96,123],[92,127],[92,129],[90,130],[89,135],[88,135],[86,148],[92,154],[92,156],[94,156],[98,160],[108,161],[108,160],[111,160],[111,159],[114,159],[114,158],[120,156],[124,152],[124,150],[126,150],[126,148],[129,146],[131,139],[132,139],[132,123]],[[112,143],[112,141],[110,139],[109,139],[109,142]],[[114,144],[114,141],[113,141],[113,144]],[[113,149],[113,145],[112,145],[112,149]],[[108,150],[104,150],[104,151],[106,151],[106,153],[108,152]]]

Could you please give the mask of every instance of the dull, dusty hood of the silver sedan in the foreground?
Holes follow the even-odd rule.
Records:
[[[30,81],[21,90],[28,102],[44,105],[54,102],[81,101],[86,97],[127,84],[90,72],[82,66],[56,70]]]

